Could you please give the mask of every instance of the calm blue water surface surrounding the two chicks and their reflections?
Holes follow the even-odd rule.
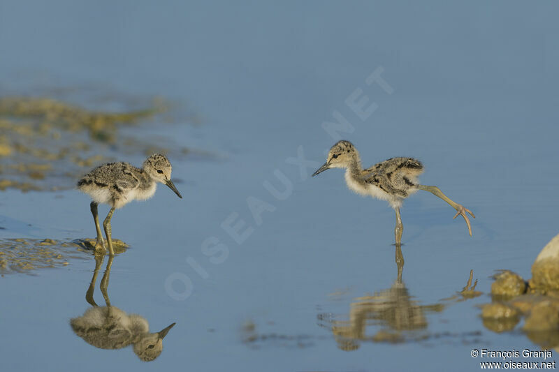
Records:
[[[184,198],[160,187],[112,219],[113,236],[132,248],[112,264],[111,303],[142,315],[154,332],[177,322],[155,362],[73,334],[68,321],[89,307],[91,258],[1,278],[3,369],[472,371],[472,348],[537,349],[520,332],[484,329],[476,305],[487,295],[441,299],[463,288],[470,269],[485,293],[495,269],[529,278],[558,232],[557,10],[511,1],[0,1],[3,94],[96,84],[161,95],[203,125],[154,123],[145,138],[163,131],[220,154],[171,159]],[[391,89],[365,81],[378,68]],[[377,107],[365,119],[345,103],[356,89]],[[423,341],[403,332],[403,343],[357,341],[344,351],[321,320],[349,320],[351,303],[396,279],[393,211],[347,191],[339,170],[309,177],[335,142],[323,128],[334,112],[349,122],[340,136],[364,165],[419,158],[423,183],[477,216],[470,238],[433,195],[418,193],[402,209],[411,301],[444,305],[424,313]],[[298,156],[312,163],[301,170],[289,160]],[[285,191],[278,171],[290,186],[281,200],[263,186]],[[259,203],[260,218],[247,199]],[[78,191],[4,191],[0,237],[93,237],[88,203]],[[244,221],[244,238],[222,228],[228,218]],[[205,255],[208,238],[221,251]],[[99,288],[95,296],[102,304]],[[255,341],[246,341],[247,322]],[[370,322],[365,337],[379,329],[391,326]]]

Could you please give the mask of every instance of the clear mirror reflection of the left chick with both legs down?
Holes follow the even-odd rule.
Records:
[[[111,306],[107,289],[112,257],[109,258],[100,285],[106,306],[98,306],[93,299],[93,293],[97,274],[104,258],[104,255],[96,255],[93,278],[85,295],[85,299],[93,307],[85,311],[84,315],[71,319],[70,325],[75,334],[83,338],[89,345],[100,349],[121,349],[133,345],[133,350],[138,358],[144,362],[150,362],[161,354],[163,338],[175,323],[159,332],[150,333],[150,326],[145,318],[136,314],[127,314],[119,308]]]

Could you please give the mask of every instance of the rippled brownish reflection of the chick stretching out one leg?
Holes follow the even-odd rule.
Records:
[[[395,248],[395,262],[398,276],[391,288],[354,299],[350,305],[349,320],[329,320],[338,348],[350,351],[358,349],[363,341],[401,343],[441,336],[427,332],[426,315],[442,312],[450,302],[460,302],[481,295],[481,292],[475,290],[477,281],[472,285],[473,273],[470,271],[470,278],[463,290],[436,304],[423,305],[409,295],[402,281],[404,257],[400,246]],[[376,329],[376,333],[368,334],[368,329]],[[458,336],[479,336],[479,333]]]

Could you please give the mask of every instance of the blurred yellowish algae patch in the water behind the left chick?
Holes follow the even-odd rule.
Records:
[[[0,191],[72,188],[89,168],[110,161],[110,151],[141,154],[140,140],[117,139],[120,128],[155,120],[168,107],[161,99],[146,105],[104,112],[52,98],[0,98]]]

